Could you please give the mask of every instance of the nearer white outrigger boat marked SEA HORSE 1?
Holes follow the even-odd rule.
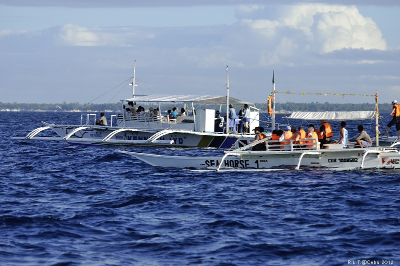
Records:
[[[272,102],[274,102],[274,80],[272,79]],[[376,94],[377,95],[377,94]],[[303,119],[311,116],[313,120],[360,120],[375,117],[377,127],[377,96],[374,111],[365,112],[294,112],[290,118]],[[274,104],[272,104],[272,121],[274,121]],[[316,118],[316,115],[318,117]],[[274,123],[272,123],[272,130]],[[310,140],[310,139],[306,139]],[[301,140],[300,140],[301,141]],[[305,140],[303,140],[305,141]],[[251,146],[265,142],[265,151],[252,151]],[[152,166],[194,168],[194,169],[302,169],[324,168],[331,170],[357,170],[400,168],[400,153],[395,147],[379,147],[378,134],[376,134],[377,146],[364,148],[343,148],[342,144],[324,144],[325,149],[319,148],[318,139],[313,139],[313,144],[308,147],[300,147],[293,143],[294,140],[282,145],[276,140],[264,141],[264,139],[249,145],[225,151],[223,156],[165,156],[144,154],[137,152],[121,151]]]

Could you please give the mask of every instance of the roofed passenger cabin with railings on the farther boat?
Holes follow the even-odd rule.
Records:
[[[128,106],[128,102],[136,102],[136,106],[147,106],[147,110],[149,106],[156,106],[154,109],[158,108],[159,112],[157,114],[151,114],[148,112],[132,114],[131,112],[125,112],[121,109],[121,111],[116,114],[117,127],[148,128],[157,130],[171,128],[175,130],[220,133],[225,133],[228,130],[229,133],[241,133],[239,117],[234,121],[228,121],[228,129],[226,129],[226,121],[224,121],[223,117],[215,118],[217,110],[220,111],[220,113],[226,113],[228,110],[226,108],[226,96],[143,95],[121,101],[122,105],[125,106]],[[237,100],[232,97],[229,97],[228,102],[239,106],[239,108],[242,108],[244,104],[249,106],[250,128],[247,132],[251,133],[251,130],[259,125],[259,109],[256,109],[251,103]],[[176,105],[184,107],[187,111],[185,116],[171,118],[166,114],[166,110],[163,110],[171,109],[170,106]],[[222,110],[224,108],[226,108],[226,110]]]

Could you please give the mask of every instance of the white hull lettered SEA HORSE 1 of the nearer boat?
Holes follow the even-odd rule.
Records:
[[[120,151],[145,163],[159,167],[195,169],[368,169],[398,168],[396,150],[341,149],[318,151],[244,151],[222,156],[164,156]],[[222,161],[222,163],[221,163]]]

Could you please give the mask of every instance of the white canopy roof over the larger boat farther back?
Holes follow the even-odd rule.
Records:
[[[126,99],[124,101],[132,102],[193,102],[193,103],[209,103],[209,104],[226,104],[226,96],[214,96],[214,95],[169,95],[169,94],[152,94],[144,96],[135,96],[134,98]],[[241,101],[232,97],[229,97],[230,104],[237,105],[253,105],[250,102]]]

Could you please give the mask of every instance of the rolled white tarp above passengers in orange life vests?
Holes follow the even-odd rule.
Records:
[[[351,111],[351,112],[293,112],[289,119],[302,120],[367,120],[375,116],[375,111]]]

